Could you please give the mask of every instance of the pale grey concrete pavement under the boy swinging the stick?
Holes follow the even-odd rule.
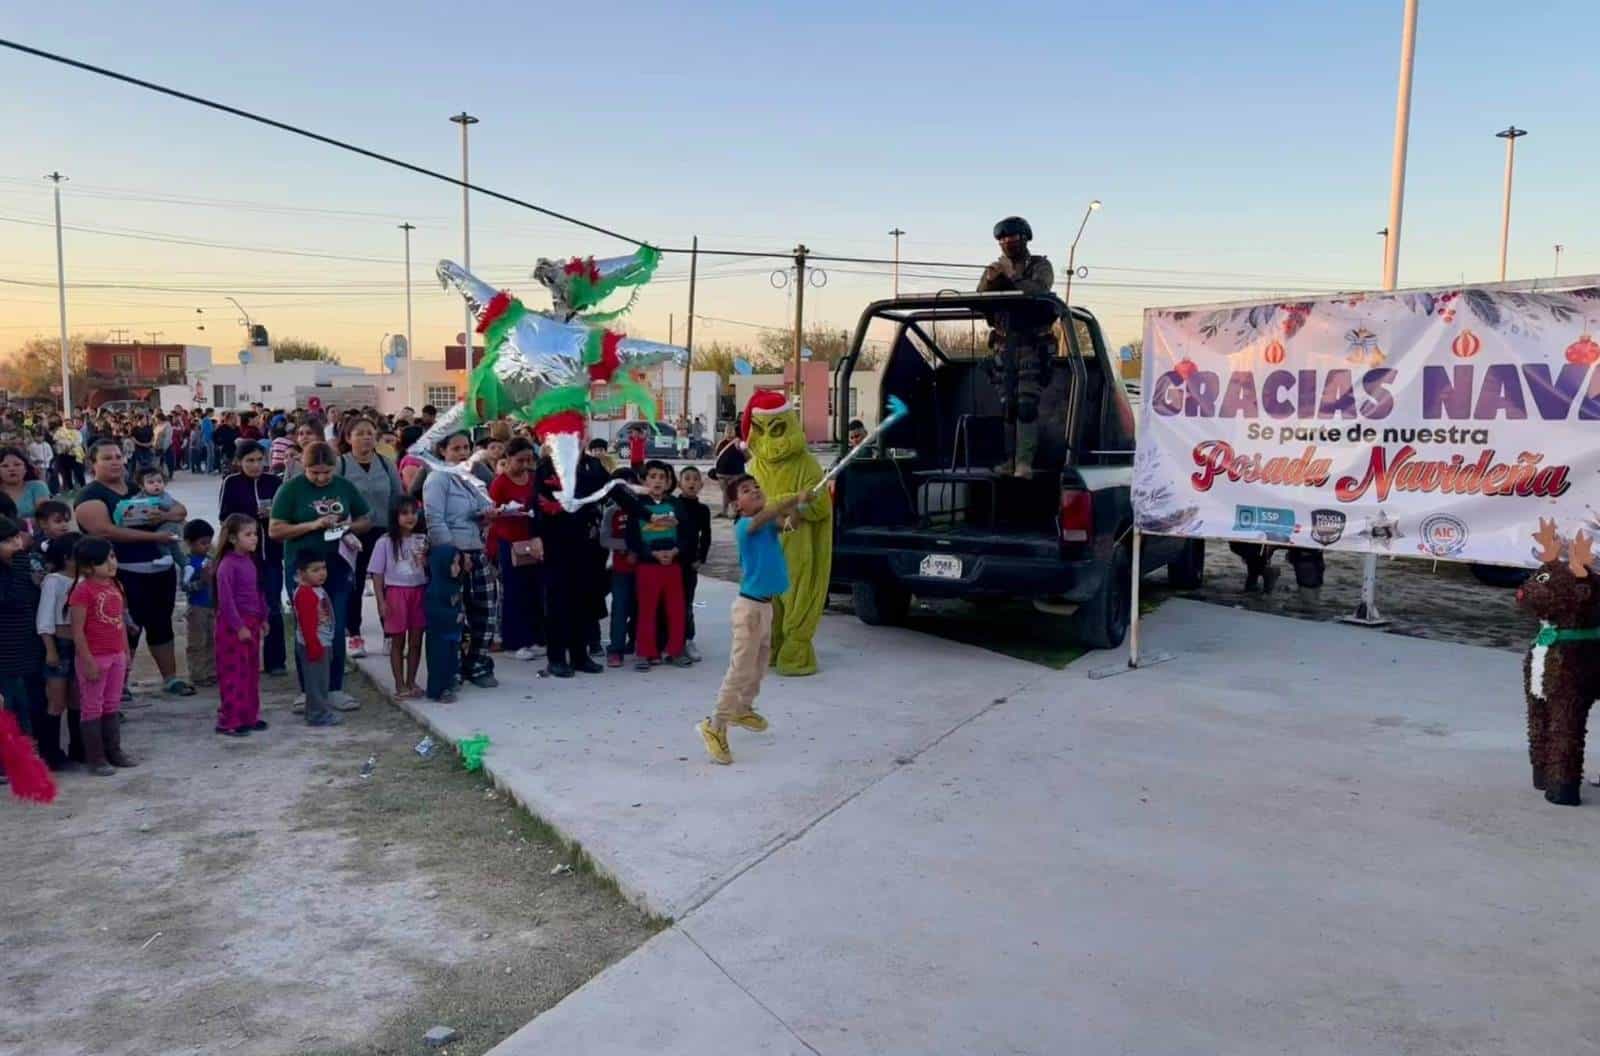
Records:
[[[1528,786],[1514,654],[1168,602],[1090,682],[830,616],[717,768],[702,589],[694,669],[418,709],[677,918],[498,1056],[1600,1053],[1600,795]]]

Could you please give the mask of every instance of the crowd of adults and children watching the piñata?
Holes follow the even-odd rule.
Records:
[[[358,706],[346,658],[370,648],[387,651],[397,699],[435,701],[496,686],[496,659],[542,659],[555,678],[699,659],[714,515],[701,493],[720,477],[734,486],[718,512],[738,502],[749,478],[736,438],[718,442],[710,474],[616,464],[595,440],[576,494],[626,486],[570,510],[541,437],[520,424],[410,454],[435,418],[0,408],[0,694],[42,758],[94,774],[136,765],[120,731],[122,710],[142,702],[130,685],[141,643],[162,693],[218,686],[216,733],[229,738],[267,730],[262,678],[291,670],[304,723],[341,725]],[[168,493],[181,470],[221,477],[219,523]]]

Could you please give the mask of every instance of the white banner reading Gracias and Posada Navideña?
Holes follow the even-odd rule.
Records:
[[[1149,309],[1141,531],[1531,565],[1600,533],[1600,278]]]

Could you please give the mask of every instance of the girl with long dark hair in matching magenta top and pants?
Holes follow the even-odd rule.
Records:
[[[213,557],[216,576],[216,670],[221,702],[216,731],[243,738],[266,730],[261,718],[261,642],[267,634],[267,600],[261,595],[256,547],[261,525],[248,514],[229,514]],[[331,624],[330,624],[331,627]],[[194,638],[190,638],[194,643]],[[306,680],[310,715],[310,678]]]

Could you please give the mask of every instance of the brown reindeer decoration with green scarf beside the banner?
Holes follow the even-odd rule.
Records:
[[[1555,522],[1539,518],[1539,571],[1517,590],[1517,605],[1539,618],[1539,634],[1522,664],[1528,698],[1528,758],[1544,798],[1578,806],[1584,774],[1589,706],[1600,691],[1600,627],[1595,627],[1592,539],[1578,533],[1566,547]]]

